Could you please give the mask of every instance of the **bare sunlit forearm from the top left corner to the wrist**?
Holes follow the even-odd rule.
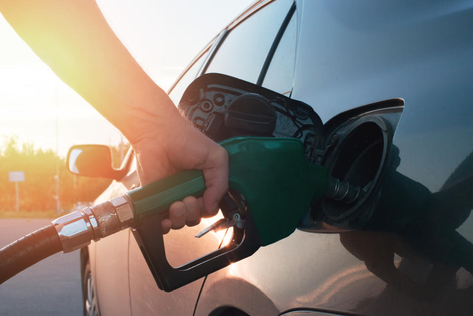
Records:
[[[0,0],[4,18],[33,51],[130,141],[177,114],[94,0]]]

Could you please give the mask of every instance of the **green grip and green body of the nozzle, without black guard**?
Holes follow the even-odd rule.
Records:
[[[305,160],[300,140],[240,137],[220,145],[229,154],[229,187],[244,198],[262,246],[294,232],[312,199],[327,190],[327,170]],[[173,202],[202,196],[204,190],[201,171],[183,171],[126,195],[136,225],[151,215],[166,217]]]

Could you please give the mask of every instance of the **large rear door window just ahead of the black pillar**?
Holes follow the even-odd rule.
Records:
[[[278,0],[238,24],[224,39],[205,72],[256,83],[270,46],[293,0]]]

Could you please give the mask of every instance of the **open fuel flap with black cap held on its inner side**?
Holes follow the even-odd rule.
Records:
[[[235,136],[297,138],[307,159],[320,162],[323,124],[312,107],[219,73],[192,82],[178,105],[190,123],[215,141]]]

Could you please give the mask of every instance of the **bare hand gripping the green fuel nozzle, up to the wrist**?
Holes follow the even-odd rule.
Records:
[[[170,176],[180,170],[203,171],[206,190],[203,197],[186,197],[169,208],[169,219],[162,221],[163,233],[194,226],[201,217],[213,216],[228,190],[228,153],[177,115],[159,124],[132,142],[137,155],[141,185]],[[162,121],[162,119],[160,119]]]

